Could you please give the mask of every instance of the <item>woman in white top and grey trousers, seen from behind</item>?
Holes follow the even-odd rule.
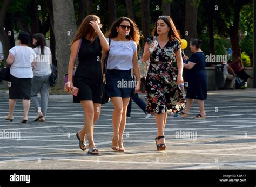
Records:
[[[45,37],[41,33],[33,35],[33,45],[36,47],[33,50],[36,53],[35,62],[33,65],[33,80],[31,100],[36,107],[37,117],[34,121],[45,122],[47,112],[48,96],[50,90],[49,77],[51,76],[51,50],[46,47]],[[41,95],[41,106],[37,94]],[[41,110],[42,108],[42,110]]]

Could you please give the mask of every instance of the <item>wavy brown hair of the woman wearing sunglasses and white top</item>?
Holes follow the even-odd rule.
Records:
[[[127,17],[120,17],[116,21],[114,21],[114,23],[110,27],[110,30],[107,32],[106,36],[108,38],[116,38],[118,35],[116,27],[119,27],[119,25],[123,21],[128,21],[131,25],[129,35],[126,36],[126,39],[132,40],[132,41],[136,42],[136,44],[138,45],[139,39],[140,39],[139,30],[137,28],[137,25],[130,18],[127,18]]]

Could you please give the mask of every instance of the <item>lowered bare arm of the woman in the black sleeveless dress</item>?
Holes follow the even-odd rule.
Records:
[[[73,42],[73,44],[71,45],[71,53],[70,53],[69,69],[68,69],[68,82],[67,82],[68,87],[73,86],[73,69],[76,62],[79,44],[80,44],[80,40],[77,40]]]

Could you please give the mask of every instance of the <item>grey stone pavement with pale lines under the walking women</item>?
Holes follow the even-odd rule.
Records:
[[[206,120],[167,119],[166,152],[157,152],[154,117],[144,119],[132,105],[124,133],[126,152],[111,151],[111,103],[103,105],[95,125],[99,156],[87,155],[78,147],[76,132],[83,125],[83,110],[69,100],[50,100],[47,123],[35,123],[32,106],[28,124],[19,124],[22,104],[17,103],[13,123],[3,116],[8,96],[0,94],[0,132],[19,131],[21,140],[0,139],[0,168],[6,169],[254,169],[256,139],[256,98],[210,95]],[[69,108],[72,106],[72,109]],[[218,112],[215,112],[215,108]],[[198,113],[194,105],[191,116]],[[177,138],[177,133],[196,132],[196,137]],[[194,138],[194,139],[193,139]],[[196,138],[196,139],[195,139]],[[15,146],[15,147],[14,147]]]

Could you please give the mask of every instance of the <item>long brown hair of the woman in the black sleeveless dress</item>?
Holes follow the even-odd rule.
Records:
[[[96,34],[95,34],[95,30],[90,25],[90,21],[97,21],[97,20],[100,20],[100,18],[96,15],[86,16],[86,18],[84,18],[84,20],[82,21],[82,24],[78,27],[78,30],[71,44],[73,44],[73,42],[84,37],[90,38],[93,41],[95,39]]]

